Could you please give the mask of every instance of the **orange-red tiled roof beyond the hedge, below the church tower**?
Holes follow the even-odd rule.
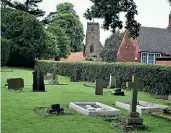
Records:
[[[84,60],[85,60],[85,57],[83,56],[83,52],[70,53],[68,58],[60,59],[60,61],[63,61],[63,62],[84,61]]]

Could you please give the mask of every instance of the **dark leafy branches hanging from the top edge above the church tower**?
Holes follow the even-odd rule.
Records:
[[[135,15],[138,14],[137,6],[133,0],[90,0],[93,2],[90,8],[87,9],[84,16],[92,20],[93,18],[104,19],[103,28],[115,32],[116,28],[122,29],[123,22],[120,20],[119,14],[125,12],[126,26],[132,38],[139,35],[140,24],[135,20]]]

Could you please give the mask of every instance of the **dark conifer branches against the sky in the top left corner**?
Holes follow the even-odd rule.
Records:
[[[8,6],[20,11],[27,12],[29,14],[32,14],[36,17],[44,16],[45,12],[41,9],[38,9],[38,3],[42,2],[42,0],[25,0],[24,3],[14,1],[11,2],[11,0],[2,0],[2,3],[4,7]]]

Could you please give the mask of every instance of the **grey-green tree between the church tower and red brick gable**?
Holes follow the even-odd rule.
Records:
[[[121,43],[123,34],[120,31],[112,34],[106,39],[105,45],[101,51],[101,57],[105,62],[117,61],[117,52]]]

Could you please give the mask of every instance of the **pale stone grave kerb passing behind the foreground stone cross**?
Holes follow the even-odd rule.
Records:
[[[124,108],[130,111],[130,104],[129,102],[119,102],[116,101],[115,105],[120,108]],[[164,109],[167,109],[168,106],[155,104],[151,102],[139,101],[137,104],[137,112],[140,114],[147,114],[152,112],[163,112]]]

